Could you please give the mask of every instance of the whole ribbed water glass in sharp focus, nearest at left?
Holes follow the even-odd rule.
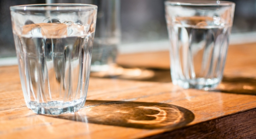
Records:
[[[27,107],[59,115],[84,106],[97,6],[12,6],[12,30]]]

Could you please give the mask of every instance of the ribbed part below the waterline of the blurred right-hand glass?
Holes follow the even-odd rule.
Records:
[[[231,27],[169,26],[172,82],[213,89],[221,81]]]

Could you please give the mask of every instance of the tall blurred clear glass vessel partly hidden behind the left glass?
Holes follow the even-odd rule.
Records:
[[[121,0],[90,0],[98,6],[91,71],[108,71],[115,64],[120,43]]]

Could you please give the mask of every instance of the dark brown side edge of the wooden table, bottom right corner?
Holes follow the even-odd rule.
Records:
[[[255,139],[255,114],[256,109],[252,109],[145,139]]]

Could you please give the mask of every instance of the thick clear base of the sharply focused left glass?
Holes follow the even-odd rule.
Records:
[[[60,115],[63,113],[74,113],[83,107],[84,103],[85,99],[83,98],[65,103],[63,101],[49,101],[47,103],[30,101],[28,107],[37,114]]]

